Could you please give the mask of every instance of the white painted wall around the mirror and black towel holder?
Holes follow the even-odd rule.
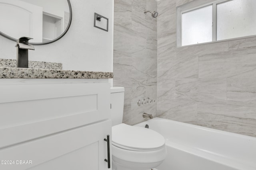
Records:
[[[113,2],[114,0],[70,0],[72,24],[62,39],[36,45],[29,60],[63,63],[64,70],[113,70]],[[94,12],[109,18],[109,31],[93,27]],[[16,42],[0,36],[0,58],[16,59]]]

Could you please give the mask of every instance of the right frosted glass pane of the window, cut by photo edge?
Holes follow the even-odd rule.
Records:
[[[217,40],[256,35],[256,0],[217,4]]]

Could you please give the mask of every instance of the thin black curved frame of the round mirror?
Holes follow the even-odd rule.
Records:
[[[72,8],[71,8],[71,4],[70,4],[70,0],[67,0],[68,1],[68,7],[69,7],[69,11],[70,11],[70,18],[69,18],[69,21],[68,21],[68,27],[65,29],[65,31],[56,39],[54,40],[51,40],[51,41],[47,41],[47,42],[42,42],[42,43],[29,43],[31,45],[45,45],[45,44],[50,44],[50,43],[53,43],[55,41],[58,41],[59,39],[61,39],[67,32],[68,32],[68,29],[70,28],[70,25],[71,25],[71,22],[72,22]],[[10,39],[12,41],[17,41],[17,39],[13,38],[13,37],[10,37],[9,35],[6,35],[4,33],[2,33],[0,31],[0,35],[6,37],[7,39]]]

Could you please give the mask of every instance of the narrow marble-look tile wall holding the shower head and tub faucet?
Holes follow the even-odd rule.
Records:
[[[142,122],[144,112],[156,116],[156,103],[138,106],[143,98],[157,98],[157,25],[151,14],[155,0],[114,0],[113,86],[124,93],[123,122]]]

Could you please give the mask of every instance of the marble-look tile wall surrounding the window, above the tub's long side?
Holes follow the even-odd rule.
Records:
[[[157,116],[256,137],[256,37],[176,47],[176,6],[160,0]]]

